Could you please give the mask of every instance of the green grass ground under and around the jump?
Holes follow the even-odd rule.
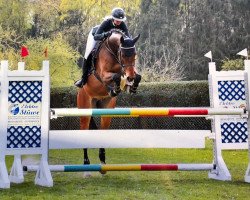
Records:
[[[107,149],[107,163],[211,163],[212,147],[205,149]],[[98,150],[90,150],[92,163],[98,163]],[[246,150],[223,151],[232,181],[208,179],[208,172],[108,172],[105,176],[82,172],[53,172],[54,187],[34,185],[35,173],[22,184],[0,190],[0,199],[249,199],[250,184],[244,182],[248,164]],[[12,162],[7,157],[8,166]],[[82,150],[50,151],[51,164],[80,164]]]

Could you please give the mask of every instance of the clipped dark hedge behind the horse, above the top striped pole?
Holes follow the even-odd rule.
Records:
[[[51,107],[76,107],[76,87],[51,89]],[[209,106],[207,81],[142,83],[136,94],[121,93],[117,107],[206,107]]]

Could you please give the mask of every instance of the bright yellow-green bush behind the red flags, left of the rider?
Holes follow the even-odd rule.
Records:
[[[44,59],[50,61],[50,76],[52,87],[72,86],[79,78],[77,67],[79,53],[63,40],[62,35],[54,39],[29,39],[25,45],[29,48],[30,56],[26,62],[28,69],[40,67]],[[48,58],[44,57],[44,50],[48,50]]]

